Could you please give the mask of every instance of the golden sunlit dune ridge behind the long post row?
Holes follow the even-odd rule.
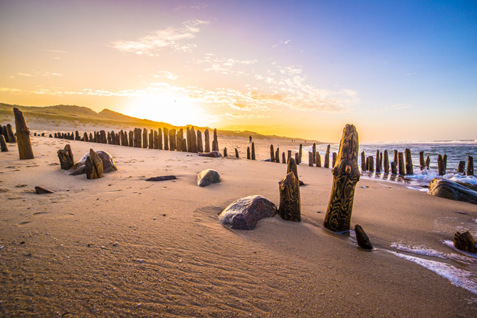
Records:
[[[14,121],[14,112],[13,108],[17,107],[23,112],[25,117],[35,119],[38,121],[58,121],[58,122],[68,122],[73,125],[80,124],[90,124],[90,125],[104,125],[108,127],[140,127],[147,129],[157,129],[159,127],[167,129],[181,129],[184,127],[190,127],[192,124],[187,126],[174,126],[172,124],[167,124],[167,122],[154,122],[152,120],[142,120],[140,118],[131,117],[123,115],[120,112],[114,112],[112,110],[101,110],[100,112],[95,112],[88,107],[75,106],[75,105],[55,105],[55,106],[22,106],[22,105],[10,105],[0,103],[0,120],[11,120]],[[1,122],[0,122],[1,123]],[[196,127],[196,126],[194,126]],[[197,127],[197,129],[211,129],[210,127]],[[222,136],[231,136],[231,137],[248,137],[252,136],[253,139],[296,139],[304,140],[301,138],[293,137],[281,137],[281,136],[269,136],[258,134],[257,132],[250,131],[230,131],[230,130],[219,130],[218,133]]]

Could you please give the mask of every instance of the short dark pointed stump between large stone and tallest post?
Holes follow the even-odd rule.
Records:
[[[288,173],[278,183],[278,189],[280,191],[278,215],[285,221],[300,222],[300,184],[298,179],[295,178],[295,174],[293,172]]]

